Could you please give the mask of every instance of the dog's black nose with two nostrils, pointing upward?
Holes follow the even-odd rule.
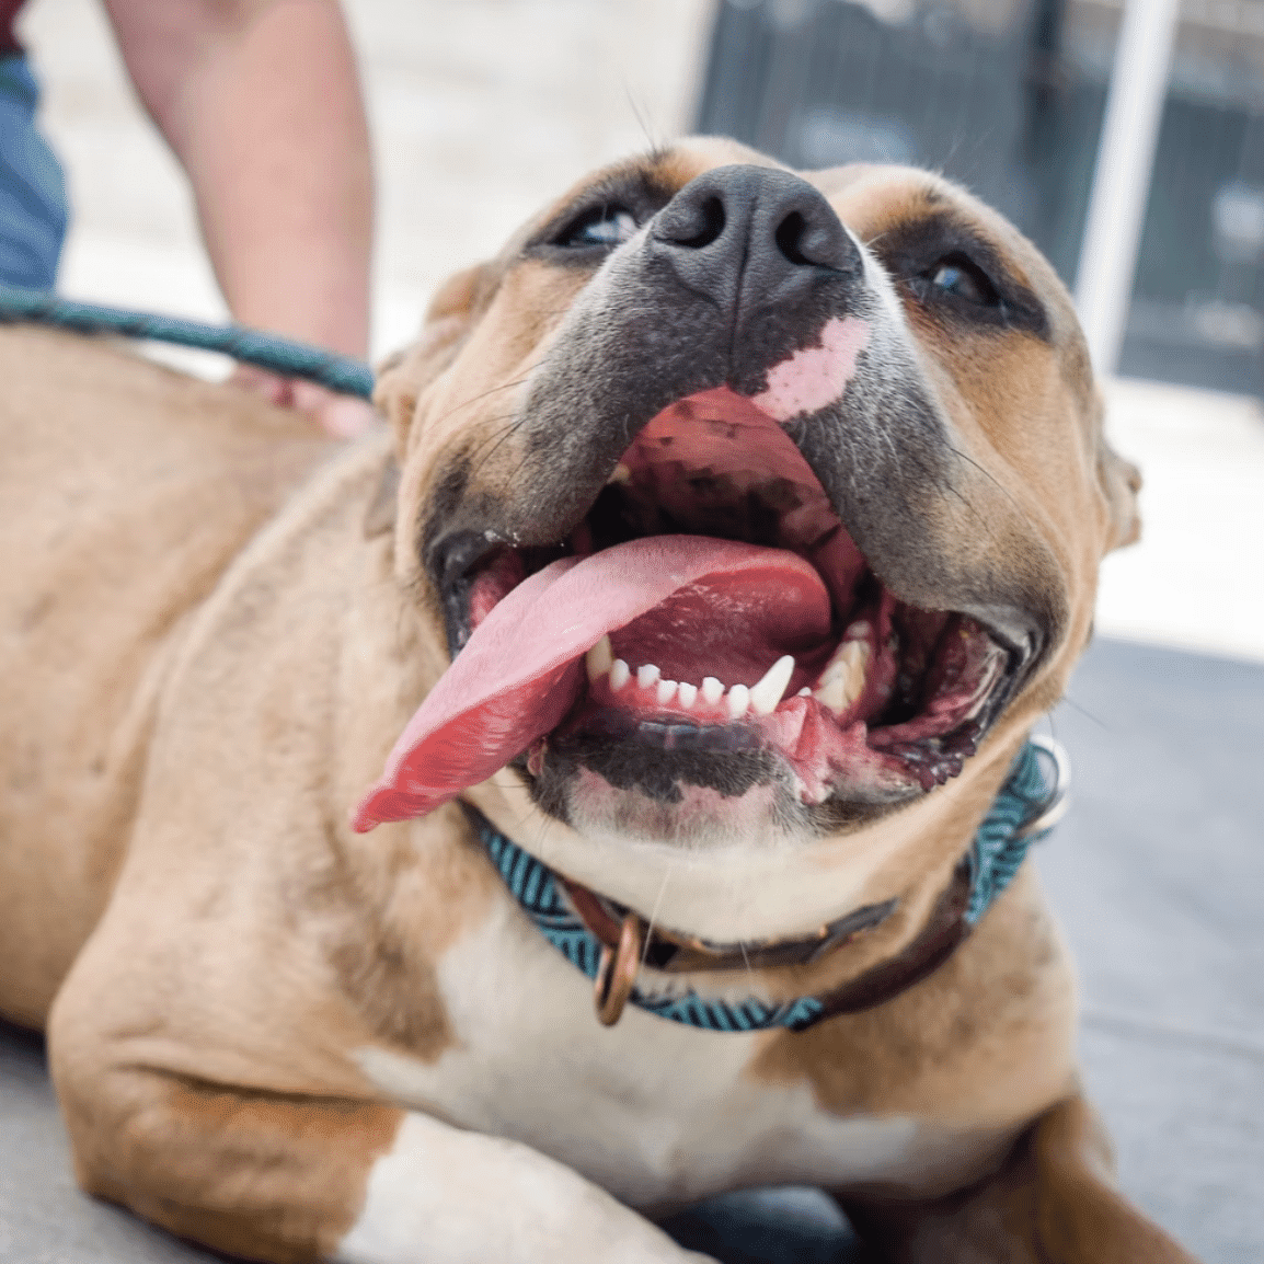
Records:
[[[861,257],[833,207],[805,179],[767,167],[717,167],[688,183],[650,230],[690,288],[742,302],[791,297],[839,273],[860,274]]]

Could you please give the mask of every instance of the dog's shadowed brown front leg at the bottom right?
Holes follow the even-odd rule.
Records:
[[[1115,1188],[1083,1097],[1045,1111],[969,1189],[921,1203],[837,1198],[887,1264],[1197,1264]]]

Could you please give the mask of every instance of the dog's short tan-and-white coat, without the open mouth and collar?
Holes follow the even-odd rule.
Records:
[[[442,585],[468,541],[555,545],[637,426],[767,392],[856,315],[851,389],[803,422],[787,406],[787,430],[902,600],[1010,647],[980,752],[929,793],[805,800],[775,846],[776,767],[748,810],[705,800],[689,849],[642,793],[667,751],[623,789],[580,751],[466,798],[576,881],[726,942],[899,899],[747,991],[819,992],[916,935],[1088,638],[1136,477],[1063,288],[1007,224],[919,172],[804,179],[849,234],[727,142],[585,181],[440,293],[382,379],[391,439],[345,450],[109,348],[0,337],[0,1012],[48,1025],[86,1189],[267,1260],[680,1260],[640,1212],[779,1182],[832,1189],[892,1260],[1189,1259],[1111,1186],[1030,866],[877,1009],[800,1034],[635,1009],[607,1029],[455,804],[348,824],[464,636]],[[707,273],[685,252],[715,198],[744,236]],[[782,258],[833,252],[846,284],[767,263],[791,214]],[[627,240],[573,249],[576,220]],[[963,254],[1000,306],[928,287]]]

